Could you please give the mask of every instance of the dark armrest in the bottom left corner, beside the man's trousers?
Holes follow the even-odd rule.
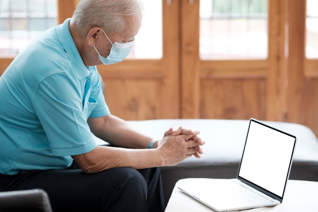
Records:
[[[0,211],[52,212],[47,193],[42,189],[0,192]]]

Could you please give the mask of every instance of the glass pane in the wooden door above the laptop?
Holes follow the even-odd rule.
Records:
[[[201,59],[266,59],[267,0],[201,0]]]

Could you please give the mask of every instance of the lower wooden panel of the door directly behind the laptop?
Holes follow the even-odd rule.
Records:
[[[202,79],[200,117],[249,119],[265,117],[266,81],[258,79]]]

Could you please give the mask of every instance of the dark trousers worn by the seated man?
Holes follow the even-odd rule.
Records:
[[[35,188],[48,193],[54,212],[164,211],[160,168],[115,168],[85,174],[73,165],[63,170],[0,175],[0,191]]]

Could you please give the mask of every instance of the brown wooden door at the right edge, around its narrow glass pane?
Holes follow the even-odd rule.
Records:
[[[310,3],[315,3],[315,7],[308,7],[314,8],[317,14],[317,2]],[[318,52],[307,58],[306,11],[306,1],[288,1],[287,121],[306,125],[318,136]],[[318,16],[315,18],[318,20]],[[314,33],[316,40],[318,33]]]

